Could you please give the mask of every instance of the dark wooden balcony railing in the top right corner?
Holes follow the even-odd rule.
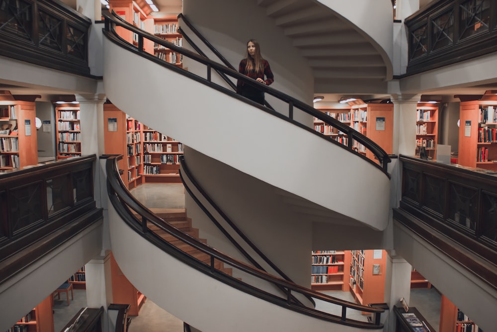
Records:
[[[497,51],[497,1],[431,1],[405,20],[407,74]]]

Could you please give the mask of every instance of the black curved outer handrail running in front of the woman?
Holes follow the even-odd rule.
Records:
[[[168,42],[162,38],[159,38],[151,33],[143,31],[143,30],[133,26],[132,24],[126,22],[125,20],[123,20],[121,17],[119,17],[117,14],[115,14],[114,11],[112,11],[112,13],[103,12],[102,14],[105,18],[105,27],[104,27],[104,31],[103,31],[104,35],[109,40],[116,43],[120,47],[123,47],[123,48],[125,48],[133,53],[136,53],[142,57],[145,57],[151,61],[154,61],[155,63],[157,63],[161,66],[167,67],[168,69],[175,71],[176,73],[179,73],[181,75],[184,75],[190,79],[193,79],[199,83],[208,85],[209,87],[211,87],[213,89],[216,89],[220,92],[228,94],[234,98],[243,100],[244,102],[246,102],[254,107],[257,107],[263,111],[267,111],[268,113],[270,113],[274,116],[280,117],[281,119],[289,121],[289,122],[293,123],[294,125],[297,125],[305,130],[308,130],[316,135],[319,135],[320,137],[326,139],[327,141],[329,141],[333,144],[336,144],[344,149],[347,149],[349,152],[354,153],[355,155],[357,155],[360,158],[364,159],[365,161],[371,163],[375,167],[381,169],[383,171],[383,173],[385,173],[385,175],[390,178],[390,175],[387,172],[388,163],[391,161],[389,155],[378,144],[376,144],[373,140],[364,136],[363,134],[361,134],[357,130],[353,129],[352,127],[334,119],[333,117],[331,117],[331,116],[329,116],[321,111],[318,111],[318,110],[312,108],[311,106],[307,105],[304,102],[299,101],[298,99],[295,99],[289,95],[286,95],[286,94],[284,94],[276,89],[273,89],[271,87],[268,87],[264,84],[260,84],[260,83],[256,82],[255,80],[252,80],[252,79],[248,78],[247,76],[240,74],[236,70],[233,70],[231,68],[227,68],[224,65],[221,65],[221,64],[214,62],[210,59],[207,59],[207,58],[205,58],[201,55],[198,55],[190,50],[187,50],[187,49],[184,49],[180,46],[174,45],[173,43],[170,43],[170,42]],[[117,33],[115,32],[115,29],[113,27],[111,28],[111,23],[113,23],[115,25],[119,25],[125,29],[128,29],[128,30],[136,33],[138,35],[138,47],[131,45],[129,42],[127,42],[127,41],[123,40],[121,37],[119,37],[117,35]],[[174,66],[173,64],[170,64],[166,61],[160,60],[159,58],[155,57],[154,55],[145,52],[143,49],[144,38],[149,39],[149,40],[151,40],[154,43],[157,43],[159,45],[163,45],[163,46],[173,50],[174,52],[180,53],[183,56],[186,56],[192,60],[195,60],[198,63],[205,65],[207,67],[207,79],[200,77],[200,76],[198,76],[194,73],[191,73],[189,71],[178,68],[178,67]],[[271,111],[268,108],[266,108],[258,103],[255,103],[255,102],[253,102],[245,97],[237,95],[233,91],[229,91],[225,87],[221,87],[217,84],[214,84],[213,82],[211,82],[211,70],[212,69],[217,69],[220,72],[223,72],[230,77],[233,77],[237,80],[242,80],[245,82],[245,84],[248,84],[252,87],[255,87],[259,90],[262,90],[264,93],[267,93],[267,94],[285,102],[286,104],[288,104],[288,116],[285,116],[279,112]],[[321,133],[318,133],[316,130],[309,128],[308,126],[304,125],[303,123],[296,121],[293,118],[294,108],[297,108],[300,111],[304,111],[304,112],[308,113],[309,115],[317,117],[320,120],[322,120],[323,122],[333,126],[334,128],[337,128],[338,130],[343,132],[348,137],[347,146],[335,141],[334,139],[331,139],[329,136],[324,136]],[[367,149],[369,149],[374,154],[375,158],[379,161],[380,164],[377,164],[375,161],[373,161],[373,160],[367,158],[366,156],[363,156],[359,152],[357,152],[353,148],[353,141],[354,140],[363,144]]]

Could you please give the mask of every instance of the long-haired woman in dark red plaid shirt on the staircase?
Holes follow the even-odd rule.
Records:
[[[247,54],[245,59],[240,61],[238,71],[261,84],[270,85],[274,82],[269,63],[260,55],[259,43],[255,39],[250,39],[247,42]],[[265,80],[264,75],[266,76]],[[237,94],[264,105],[264,92],[242,80],[237,82]]]

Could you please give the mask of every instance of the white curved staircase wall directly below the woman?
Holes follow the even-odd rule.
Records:
[[[104,61],[108,98],[142,123],[326,209],[386,227],[389,197],[375,193],[388,193],[389,179],[366,160],[108,39]]]

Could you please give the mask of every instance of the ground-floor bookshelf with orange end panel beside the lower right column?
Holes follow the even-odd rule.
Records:
[[[385,250],[350,251],[349,290],[361,305],[383,303],[385,297]]]

